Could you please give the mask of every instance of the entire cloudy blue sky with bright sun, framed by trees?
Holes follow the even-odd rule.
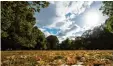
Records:
[[[47,8],[35,13],[36,26],[45,36],[55,35],[60,41],[74,39],[101,25],[108,18],[99,8],[101,1],[49,1]]]

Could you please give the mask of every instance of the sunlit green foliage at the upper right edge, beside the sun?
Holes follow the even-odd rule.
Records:
[[[102,3],[100,10],[102,10],[103,14],[109,16],[106,20],[106,28],[113,33],[113,1],[103,1]]]

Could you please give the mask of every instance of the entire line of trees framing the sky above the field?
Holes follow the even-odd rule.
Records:
[[[78,50],[113,49],[113,2],[103,1],[100,8],[109,18],[104,24],[86,30],[75,40],[59,43],[56,36],[45,37],[39,30],[35,12],[49,6],[46,1],[1,2],[1,50]]]

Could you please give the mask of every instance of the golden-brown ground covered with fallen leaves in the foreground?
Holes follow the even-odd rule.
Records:
[[[1,66],[113,66],[113,51],[1,51]]]

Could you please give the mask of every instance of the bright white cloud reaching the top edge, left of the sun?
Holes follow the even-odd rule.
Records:
[[[57,27],[55,26],[58,23],[69,21],[72,18],[75,18],[77,14],[83,13],[85,8],[89,7],[89,5],[83,7],[84,4],[88,2],[84,1],[64,1],[64,2],[55,2],[56,5],[56,16],[52,19],[53,23],[49,25],[49,27]],[[90,2],[91,4],[92,2]],[[88,3],[89,4],[89,3]],[[66,18],[66,14],[70,13],[70,17]]]

